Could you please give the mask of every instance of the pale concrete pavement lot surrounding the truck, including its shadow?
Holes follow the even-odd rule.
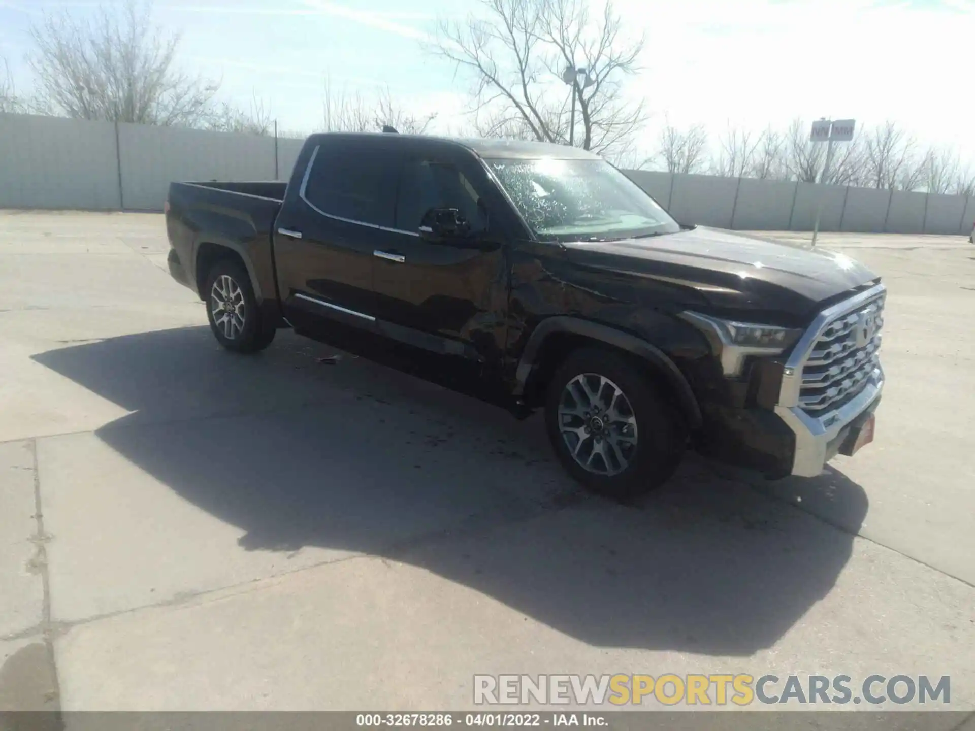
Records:
[[[849,248],[890,288],[875,444],[811,481],[692,458],[622,508],[537,418],[290,332],[221,351],[161,216],[0,213],[0,709],[726,671],[951,674],[975,710],[975,248],[896,239]]]

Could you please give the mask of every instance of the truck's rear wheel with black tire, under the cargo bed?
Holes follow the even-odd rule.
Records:
[[[207,319],[220,345],[235,353],[257,353],[271,344],[277,327],[268,327],[262,321],[251,277],[243,264],[234,259],[218,259],[210,268],[205,287]],[[232,313],[217,309],[220,302],[231,299]],[[231,315],[235,322],[228,325],[226,318]]]

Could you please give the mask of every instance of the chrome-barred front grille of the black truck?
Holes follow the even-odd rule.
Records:
[[[859,394],[879,365],[883,300],[840,315],[823,328],[802,366],[799,405],[818,416]]]

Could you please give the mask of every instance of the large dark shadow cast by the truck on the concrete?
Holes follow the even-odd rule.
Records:
[[[364,359],[317,361],[330,353],[281,332],[243,358],[190,327],[34,360],[132,411],[99,440],[244,531],[236,545],[174,550],[396,559],[597,646],[767,648],[835,585],[867,513],[835,470],[788,489],[843,529],[696,457],[639,505],[616,505],[565,476],[538,417],[517,422]],[[133,519],[166,520],[130,502]],[[178,542],[180,525],[167,529]]]

